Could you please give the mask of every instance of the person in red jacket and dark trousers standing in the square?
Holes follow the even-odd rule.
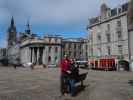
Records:
[[[62,95],[66,95],[66,93],[68,92],[68,84],[69,84],[69,79],[68,79],[68,75],[71,73],[70,72],[70,60],[68,58],[68,55],[65,55],[64,58],[61,60],[60,62],[60,69],[61,69],[61,94]]]

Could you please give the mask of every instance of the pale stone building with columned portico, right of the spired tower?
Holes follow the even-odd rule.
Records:
[[[32,38],[20,45],[21,63],[57,64],[61,59],[61,38],[45,36],[43,39]]]

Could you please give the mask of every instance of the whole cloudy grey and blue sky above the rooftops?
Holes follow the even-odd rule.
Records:
[[[99,14],[100,5],[116,7],[127,0],[0,0],[0,47],[5,45],[6,31],[14,17],[17,32],[24,32],[27,20],[32,32],[86,37],[88,18]]]

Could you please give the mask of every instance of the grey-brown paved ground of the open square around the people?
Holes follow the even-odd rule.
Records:
[[[131,72],[88,71],[75,97],[60,95],[59,76],[58,68],[0,67],[0,100],[133,100]]]

